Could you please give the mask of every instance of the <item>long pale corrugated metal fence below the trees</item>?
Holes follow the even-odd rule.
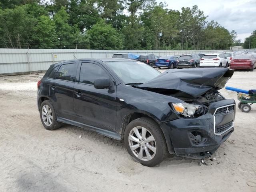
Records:
[[[0,76],[44,71],[53,63],[80,59],[112,57],[114,53],[155,54],[214,53],[230,50],[76,50],[76,49],[0,49]]]

